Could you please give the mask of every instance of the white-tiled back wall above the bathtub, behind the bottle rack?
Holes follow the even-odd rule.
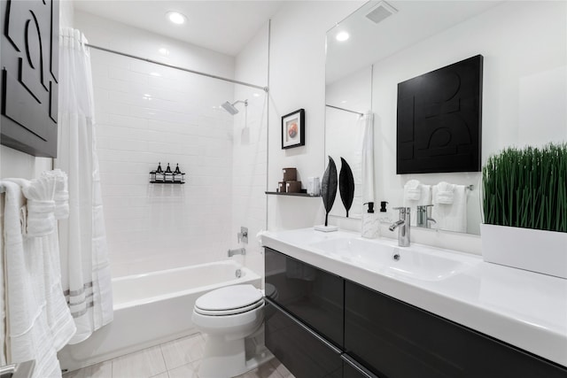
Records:
[[[232,77],[234,58],[76,12],[95,45]],[[232,247],[234,85],[91,49],[97,152],[113,276],[226,258]],[[151,184],[161,162],[183,185]],[[236,244],[236,243],[234,243]]]

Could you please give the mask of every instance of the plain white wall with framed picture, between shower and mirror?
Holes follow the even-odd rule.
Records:
[[[282,168],[297,167],[307,177],[322,176],[325,122],[325,34],[356,10],[358,1],[287,2],[272,19],[269,74],[268,189],[282,181]],[[281,146],[281,118],[306,111],[306,145]],[[324,220],[321,198],[268,196],[268,228],[312,227]]]

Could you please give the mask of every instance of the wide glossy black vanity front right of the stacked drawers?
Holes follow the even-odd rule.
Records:
[[[565,378],[567,369],[346,281],[345,349],[388,378]]]

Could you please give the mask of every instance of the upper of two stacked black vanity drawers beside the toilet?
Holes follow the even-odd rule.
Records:
[[[266,283],[275,287],[277,305],[342,347],[343,278],[266,248]]]

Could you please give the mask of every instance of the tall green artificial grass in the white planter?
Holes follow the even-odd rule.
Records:
[[[502,150],[482,179],[486,224],[567,232],[567,143]]]

